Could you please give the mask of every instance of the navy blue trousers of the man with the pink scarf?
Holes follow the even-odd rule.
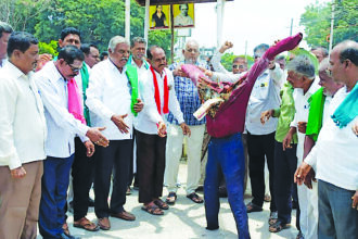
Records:
[[[60,234],[63,232],[64,206],[73,162],[74,154],[65,159],[48,156],[43,161],[39,229],[46,239],[59,238]]]

